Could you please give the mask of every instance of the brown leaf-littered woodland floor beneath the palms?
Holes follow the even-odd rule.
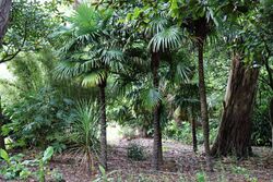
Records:
[[[145,148],[146,160],[132,161],[127,157],[127,146],[136,143]],[[164,166],[159,172],[151,170],[153,139],[135,138],[120,139],[109,146],[109,178],[114,181],[197,181],[205,177],[206,181],[273,181],[273,155],[270,148],[253,147],[256,157],[237,161],[234,158],[223,158],[214,161],[214,172],[205,170],[204,156],[192,153],[191,146],[178,142],[164,141]],[[200,148],[202,150],[202,148]],[[80,159],[80,157],[78,157]],[[84,165],[79,165],[71,155],[56,156],[50,163],[58,168],[68,182],[91,181],[84,171]],[[98,171],[96,172],[98,173]],[[200,180],[202,181],[202,180]]]

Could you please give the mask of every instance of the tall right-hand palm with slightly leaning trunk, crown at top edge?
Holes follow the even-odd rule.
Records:
[[[201,105],[201,119],[203,125],[204,135],[204,149],[206,155],[207,168],[212,171],[213,165],[210,156],[210,126],[209,126],[209,113],[204,81],[204,44],[207,36],[212,33],[212,29],[217,25],[217,21],[213,14],[213,8],[216,9],[217,4],[209,1],[189,1],[178,4],[177,1],[173,1],[170,10],[176,19],[182,20],[181,26],[190,33],[193,37],[193,44],[198,50],[198,73],[199,73],[199,95]],[[181,16],[179,11],[185,10],[185,14]]]

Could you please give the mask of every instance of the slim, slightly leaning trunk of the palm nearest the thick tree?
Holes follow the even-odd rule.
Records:
[[[210,156],[210,125],[209,125],[209,113],[207,113],[207,102],[205,93],[205,81],[204,81],[204,61],[203,61],[203,47],[204,38],[200,37],[198,41],[198,72],[199,72],[199,94],[200,94],[200,105],[201,105],[201,119],[203,126],[204,136],[204,150],[206,165],[210,171],[213,171],[212,158]]]

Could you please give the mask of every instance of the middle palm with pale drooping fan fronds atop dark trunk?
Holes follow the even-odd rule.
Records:
[[[173,49],[177,49],[181,44],[181,32],[179,27],[171,26],[169,20],[166,16],[157,16],[151,22],[151,27],[147,29],[153,35],[150,41],[151,49],[151,71],[153,75],[153,86],[155,90],[159,94],[159,74],[158,69],[161,64],[161,56],[167,54]],[[161,97],[158,97],[161,98]],[[162,150],[162,129],[161,129],[161,112],[162,112],[162,101],[158,99],[154,106],[154,146],[153,146],[153,168],[155,170],[159,169],[159,165],[163,163],[163,150]]]

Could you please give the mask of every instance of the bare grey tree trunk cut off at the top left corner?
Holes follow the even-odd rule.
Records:
[[[11,0],[0,1],[0,47],[9,23],[9,15],[11,11]]]

